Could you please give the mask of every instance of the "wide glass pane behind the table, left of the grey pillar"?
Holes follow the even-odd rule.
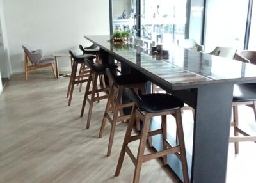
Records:
[[[173,45],[185,36],[187,0],[141,0],[141,37]]]

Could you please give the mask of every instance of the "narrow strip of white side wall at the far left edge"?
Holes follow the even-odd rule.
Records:
[[[0,0],[0,42],[3,44],[3,47],[0,47],[0,70],[1,77],[10,78],[10,74],[12,72],[10,65],[10,54],[9,54],[9,46],[8,39],[6,35],[6,24],[4,19],[4,7],[3,0]]]

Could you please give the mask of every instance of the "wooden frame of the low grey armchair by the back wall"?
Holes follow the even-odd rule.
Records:
[[[31,70],[36,70],[36,69],[40,69],[40,68],[44,68],[44,67],[52,67],[52,72],[54,74],[55,79],[57,79],[56,76],[56,70],[55,70],[55,65],[54,63],[45,63],[44,65],[34,65],[32,63],[31,60],[29,60],[28,55],[26,54],[26,52],[24,52],[25,56],[24,56],[24,70],[25,70],[25,79],[26,81],[28,81],[28,72]],[[28,61],[30,61],[30,63],[32,65],[28,64]]]

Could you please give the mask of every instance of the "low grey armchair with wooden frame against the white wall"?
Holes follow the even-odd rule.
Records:
[[[32,50],[28,45],[22,45],[24,50],[25,58],[24,58],[24,69],[25,69],[25,77],[26,81],[28,81],[28,72],[31,70],[36,70],[44,67],[52,67],[52,72],[56,79],[56,71],[55,71],[55,61],[54,58],[44,58],[42,59],[42,50]],[[29,65],[28,60],[31,62]]]

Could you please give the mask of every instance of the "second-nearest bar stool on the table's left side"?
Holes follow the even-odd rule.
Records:
[[[130,115],[124,115],[122,113],[122,110],[124,108],[132,107],[134,105],[133,102],[122,104],[122,94],[124,92],[124,88],[129,87],[134,90],[140,89],[141,93],[145,94],[146,83],[148,80],[143,76],[134,76],[131,74],[114,76],[111,70],[109,70],[109,68],[106,68],[106,75],[108,76],[109,80],[111,80],[111,87],[108,95],[108,102],[102,120],[102,125],[100,128],[99,138],[102,138],[104,127],[106,125],[106,120],[108,119],[108,122],[111,123],[111,132],[109,136],[107,153],[107,156],[109,156],[111,154],[111,148],[113,145],[116,123],[122,122],[124,120],[129,120],[130,118]],[[115,91],[117,93],[116,99]],[[120,116],[118,116],[118,112],[120,112]],[[113,113],[113,118],[111,118],[109,113]]]

